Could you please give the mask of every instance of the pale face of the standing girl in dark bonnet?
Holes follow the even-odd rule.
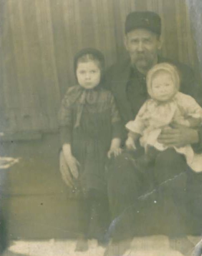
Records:
[[[80,86],[92,89],[100,83],[100,68],[95,61],[78,62],[76,77]]]

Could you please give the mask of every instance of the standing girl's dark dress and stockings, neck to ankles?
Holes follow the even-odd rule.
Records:
[[[81,233],[102,241],[109,224],[105,162],[111,140],[121,133],[114,98],[100,85],[94,89],[71,87],[62,101],[59,120],[62,144],[71,144],[80,163]]]

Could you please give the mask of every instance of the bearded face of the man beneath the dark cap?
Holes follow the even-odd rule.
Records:
[[[155,33],[140,28],[127,33],[125,47],[138,70],[149,70],[157,62],[161,41]]]

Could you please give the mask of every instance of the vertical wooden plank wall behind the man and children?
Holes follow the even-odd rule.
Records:
[[[132,10],[158,12],[163,55],[197,67],[185,0],[1,0],[0,130],[56,130],[75,52],[96,47],[107,66],[121,59]]]

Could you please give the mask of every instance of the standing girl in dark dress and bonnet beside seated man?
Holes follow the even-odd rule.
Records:
[[[85,251],[88,238],[102,241],[107,228],[105,162],[107,154],[111,157],[121,152],[121,125],[114,98],[102,87],[102,53],[91,48],[81,50],[75,56],[74,70],[77,85],[68,89],[62,101],[59,123],[63,157],[82,198],[76,250]]]

